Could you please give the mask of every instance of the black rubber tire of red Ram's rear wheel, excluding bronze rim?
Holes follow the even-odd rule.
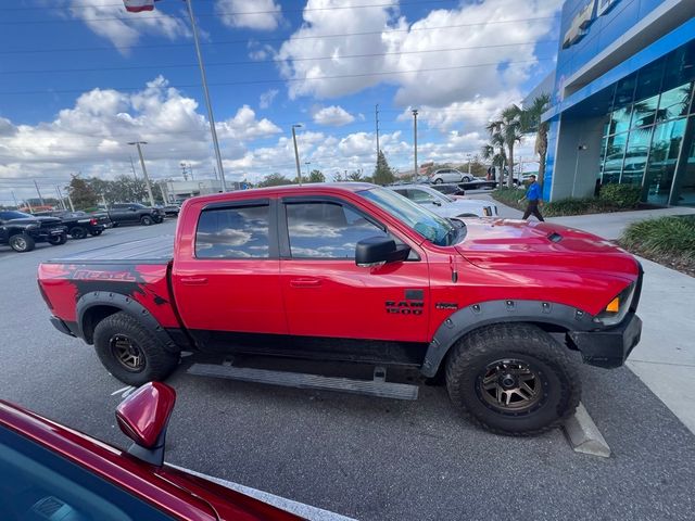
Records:
[[[127,338],[137,345],[143,355],[142,367],[134,370],[126,369],[116,358],[113,350],[114,338]],[[104,318],[94,328],[94,350],[99,359],[111,374],[129,385],[166,379],[178,366],[180,356],[165,350],[154,334],[152,334],[136,318],[119,312]]]

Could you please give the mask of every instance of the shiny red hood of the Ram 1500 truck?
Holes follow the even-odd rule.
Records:
[[[467,220],[466,227],[466,238],[456,249],[480,268],[639,275],[632,255],[606,239],[574,228],[509,219]]]

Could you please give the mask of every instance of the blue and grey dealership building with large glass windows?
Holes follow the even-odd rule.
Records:
[[[695,206],[695,0],[567,0],[551,93],[544,199],[598,183]]]

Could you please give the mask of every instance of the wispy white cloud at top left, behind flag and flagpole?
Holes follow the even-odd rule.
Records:
[[[123,2],[113,0],[62,0],[70,15],[85,22],[97,35],[110,40],[123,54],[135,46],[140,35],[164,36],[169,40],[190,37],[188,25],[161,11],[128,13]]]

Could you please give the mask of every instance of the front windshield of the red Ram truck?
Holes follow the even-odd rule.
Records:
[[[358,193],[438,246],[448,246],[458,234],[448,220],[393,190],[371,188]]]

